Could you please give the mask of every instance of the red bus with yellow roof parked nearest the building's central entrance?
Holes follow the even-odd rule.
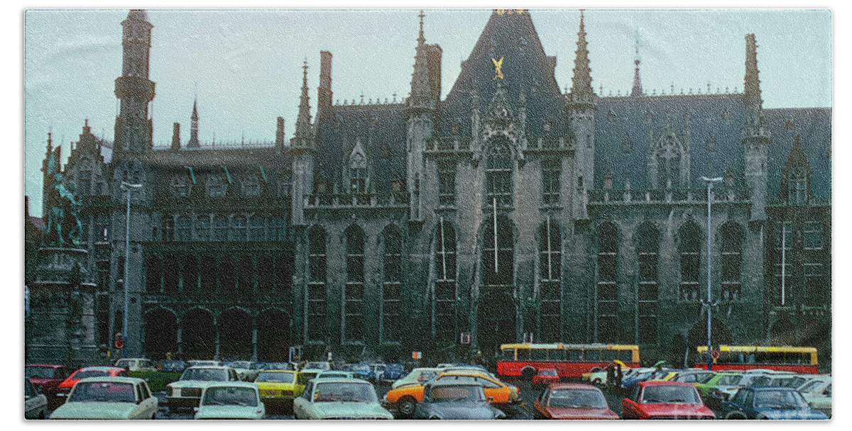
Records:
[[[635,344],[502,344],[497,361],[500,376],[530,380],[540,369],[553,368],[560,377],[580,377],[613,360],[625,366],[639,366],[639,346]]]

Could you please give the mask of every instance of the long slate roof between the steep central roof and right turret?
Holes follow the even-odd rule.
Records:
[[[684,115],[690,119],[690,188],[704,187],[699,177],[711,170],[721,175],[728,165],[739,171],[743,162],[743,145],[740,130],[746,121],[746,107],[742,94],[684,94],[640,97],[602,97],[598,99],[595,116],[595,188],[603,188],[607,157],[613,166],[627,166],[630,162],[630,188],[648,188],[648,114],[651,115],[653,133],[659,135],[671,111],[671,124],[681,136]],[[631,148],[623,150],[622,141],[629,134]],[[715,151],[706,145],[707,139],[716,140]],[[782,163],[783,166],[783,163]],[[613,188],[625,187],[625,169],[616,169]]]

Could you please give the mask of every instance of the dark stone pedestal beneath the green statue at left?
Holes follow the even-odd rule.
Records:
[[[83,248],[38,249],[30,315],[25,325],[28,363],[69,366],[101,363],[95,343],[95,283]]]

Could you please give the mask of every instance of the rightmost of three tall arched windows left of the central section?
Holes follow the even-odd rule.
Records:
[[[400,341],[402,327],[402,235],[394,225],[384,229],[382,341]]]

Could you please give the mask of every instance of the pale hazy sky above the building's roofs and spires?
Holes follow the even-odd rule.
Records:
[[[24,14],[25,193],[41,207],[48,130],[63,156],[83,121],[112,140],[114,80],[121,71],[127,9],[31,9]],[[491,9],[427,9],[427,43],[443,48],[444,94],[486,25]],[[532,9],[544,50],[557,56],[556,80],[570,85],[577,9]],[[152,9],[154,145],[169,145],[172,123],[188,139],[198,94],[202,142],[273,140],[275,118],[294,131],[302,60],[315,110],[319,52],[331,51],[334,99],[393,99],[409,91],[417,10]],[[586,11],[593,86],[630,91],[634,39],[640,35],[642,83],[650,94],[707,83],[740,91],[745,36],[757,35],[765,107],[832,105],[832,14],[822,10],[590,9]],[[197,86],[197,87],[196,87]],[[196,90],[197,88],[197,90]]]

